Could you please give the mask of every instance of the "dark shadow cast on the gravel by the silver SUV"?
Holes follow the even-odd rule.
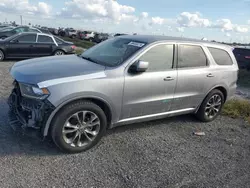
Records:
[[[48,156],[48,155],[65,155],[51,141],[51,139],[39,140],[31,138],[22,133],[15,132],[8,124],[8,105],[6,98],[0,98],[0,158],[8,155],[31,155],[31,156]],[[145,129],[152,126],[161,126],[171,124],[171,122],[187,121],[197,122],[191,115],[172,117],[167,119],[149,121],[145,123],[136,123],[124,125],[107,130],[105,136],[112,136],[122,132]],[[98,148],[98,147],[96,147]],[[90,152],[92,152],[90,150]]]

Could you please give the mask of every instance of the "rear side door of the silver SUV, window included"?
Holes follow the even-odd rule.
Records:
[[[171,110],[195,109],[216,83],[204,50],[200,45],[178,45],[178,79]]]

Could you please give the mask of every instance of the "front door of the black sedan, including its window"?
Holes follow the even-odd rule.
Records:
[[[36,44],[36,34],[23,34],[6,46],[8,57],[35,57],[33,48]]]

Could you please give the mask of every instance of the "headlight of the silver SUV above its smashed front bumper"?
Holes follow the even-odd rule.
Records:
[[[34,99],[45,99],[49,96],[49,90],[47,88],[38,88],[28,84],[19,83],[21,94],[24,97]]]

